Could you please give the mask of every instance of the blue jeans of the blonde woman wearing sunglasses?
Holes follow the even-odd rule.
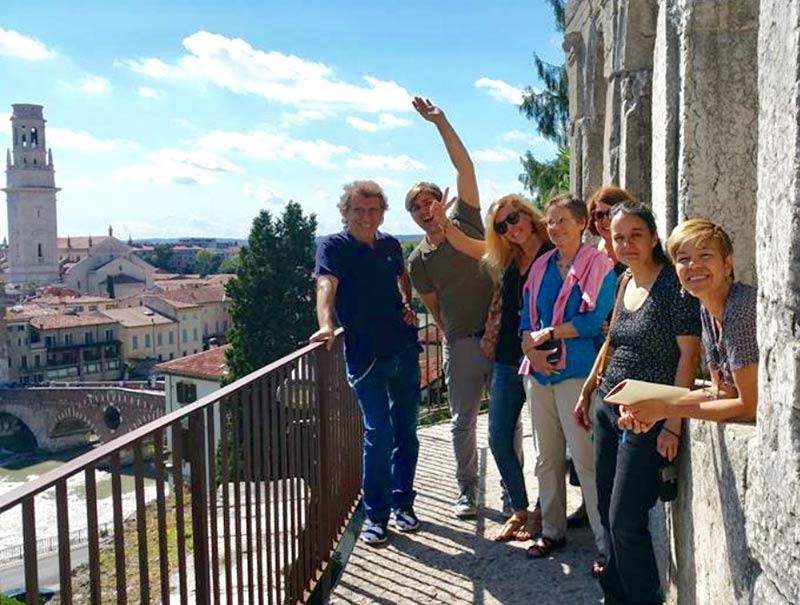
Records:
[[[525,403],[525,389],[517,366],[495,362],[489,397],[489,447],[511,505],[515,511],[525,510],[528,493],[516,443],[522,437],[519,415]]]

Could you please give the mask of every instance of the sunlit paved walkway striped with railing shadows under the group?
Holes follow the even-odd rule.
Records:
[[[527,417],[527,408],[523,416]],[[497,543],[500,529],[500,476],[489,451],[487,415],[478,424],[481,466],[477,519],[451,514],[457,496],[448,423],[421,428],[416,511],[422,529],[393,533],[385,546],[358,542],[330,597],[331,605],[441,603],[446,605],[565,605],[601,603],[596,580],[589,575],[594,545],[588,528],[570,530],[568,545],[548,559],[529,561],[529,543]],[[531,502],[538,486],[530,423],[525,423],[526,482]],[[569,488],[568,510],[580,503],[578,488]]]

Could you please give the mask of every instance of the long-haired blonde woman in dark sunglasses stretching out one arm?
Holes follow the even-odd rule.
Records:
[[[505,195],[489,207],[485,242],[469,238],[454,228],[444,214],[445,209],[440,203],[432,208],[432,213],[450,244],[482,258],[499,282],[481,345],[495,362],[489,403],[489,447],[513,513],[495,540],[527,540],[541,529],[541,511],[538,507],[532,513],[528,511],[530,503],[519,455],[522,433],[517,427],[525,403],[522,376],[517,372],[522,359],[519,337],[522,285],[533,261],[553,245],[547,237],[544,217],[520,195]]]

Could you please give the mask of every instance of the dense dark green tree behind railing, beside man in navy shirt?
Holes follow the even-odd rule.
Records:
[[[262,210],[253,220],[241,269],[226,286],[233,328],[230,379],[241,378],[297,348],[316,329],[316,216],[290,201],[283,216]]]

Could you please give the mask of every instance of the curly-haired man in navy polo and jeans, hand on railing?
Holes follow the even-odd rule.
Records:
[[[386,196],[377,183],[344,187],[345,230],[317,246],[317,320],[312,341],[333,343],[334,317],[344,327],[347,379],[364,420],[362,487],[367,544],[419,529],[414,474],[419,441],[419,344],[410,307],[411,280],[400,243],[378,231]]]

